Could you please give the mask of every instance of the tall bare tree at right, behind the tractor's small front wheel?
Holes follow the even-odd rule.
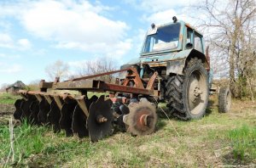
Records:
[[[207,19],[201,20],[201,27],[208,31],[208,42],[214,51],[213,60],[223,64],[222,68],[229,67],[223,71],[229,74],[233,96],[241,98],[246,94],[245,88],[249,87],[253,99],[255,0],[230,0],[226,4],[219,0],[206,0],[197,8],[207,15]]]

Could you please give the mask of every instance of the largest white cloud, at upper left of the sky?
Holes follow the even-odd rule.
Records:
[[[13,7],[20,8],[16,10],[16,16],[15,11],[11,10]],[[0,11],[2,9],[20,20],[21,25],[32,35],[54,42],[53,46],[56,48],[79,48],[90,53],[120,55],[130,49],[127,46],[131,45],[131,40],[125,39],[128,25],[105,17],[102,13],[112,8],[101,3],[92,5],[87,1],[71,0],[23,1],[0,7]]]

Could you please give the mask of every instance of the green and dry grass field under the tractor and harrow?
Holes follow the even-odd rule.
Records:
[[[9,104],[13,101],[10,99],[1,99],[0,104]],[[201,120],[160,119],[156,132],[144,137],[117,132],[98,143],[90,143],[89,137],[66,137],[64,132],[53,133],[50,127],[26,123],[15,126],[14,132],[15,161],[7,163],[9,126],[0,126],[0,166],[256,166],[256,105],[238,100],[233,101],[227,114],[218,113],[215,101]]]

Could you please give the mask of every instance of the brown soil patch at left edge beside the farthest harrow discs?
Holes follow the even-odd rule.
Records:
[[[15,106],[13,104],[0,104],[0,126],[8,125],[9,118],[15,113]]]

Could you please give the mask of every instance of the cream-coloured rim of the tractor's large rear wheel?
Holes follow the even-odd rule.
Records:
[[[199,115],[207,100],[207,79],[200,70],[190,74],[188,92],[189,111],[192,115]]]

